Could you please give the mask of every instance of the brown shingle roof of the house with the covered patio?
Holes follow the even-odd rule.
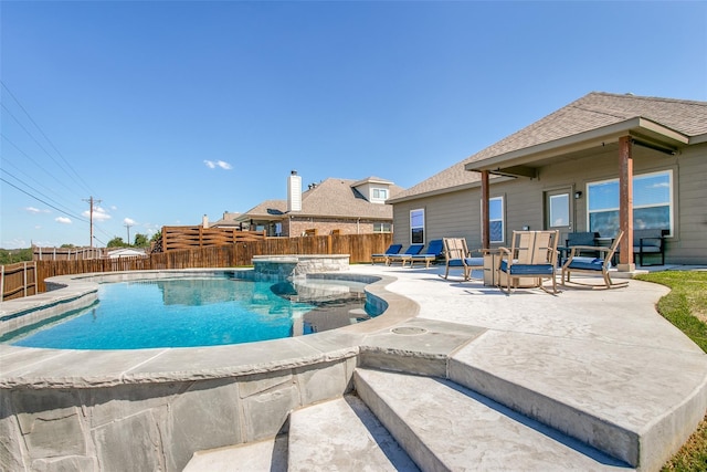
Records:
[[[444,193],[477,186],[481,175],[464,168],[469,162],[478,162],[633,118],[646,118],[686,137],[698,137],[707,134],[707,102],[592,92],[423,180],[391,200],[402,201],[423,195]]]

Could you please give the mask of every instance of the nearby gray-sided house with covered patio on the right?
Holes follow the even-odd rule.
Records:
[[[707,264],[706,181],[706,102],[590,93],[389,200],[393,239],[478,249],[524,228],[557,229],[561,242],[659,228],[666,263]]]

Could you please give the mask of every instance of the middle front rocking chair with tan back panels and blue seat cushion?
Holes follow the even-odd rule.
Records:
[[[506,291],[510,294],[519,279],[535,279],[536,285],[550,293],[544,279],[552,281],[552,294],[557,293],[557,242],[559,231],[514,231],[510,249],[498,248],[500,261],[498,271],[506,275]],[[503,283],[498,287],[503,291]]]

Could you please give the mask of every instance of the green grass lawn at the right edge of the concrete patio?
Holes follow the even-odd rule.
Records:
[[[707,353],[707,271],[653,272],[636,279],[671,287],[658,312]],[[662,470],[707,471],[707,417]]]

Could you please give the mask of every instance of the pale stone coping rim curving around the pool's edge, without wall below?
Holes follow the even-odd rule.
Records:
[[[12,313],[39,310],[43,305],[78,306],[91,304],[101,281],[128,281],[188,276],[214,272],[252,271],[252,269],[199,269],[92,273],[48,279],[60,287],[0,305],[0,318]],[[356,281],[370,274],[323,272],[319,276]],[[386,287],[397,279],[376,275],[366,286],[367,294],[388,304],[386,312],[372,319],[338,329],[239,345],[210,347],[149,348],[120,350],[46,349],[0,345],[0,388],[95,388],[116,385],[155,384],[238,377],[330,363],[357,357],[363,338],[384,332],[415,317],[420,306]],[[368,295],[367,295],[368,296]]]

